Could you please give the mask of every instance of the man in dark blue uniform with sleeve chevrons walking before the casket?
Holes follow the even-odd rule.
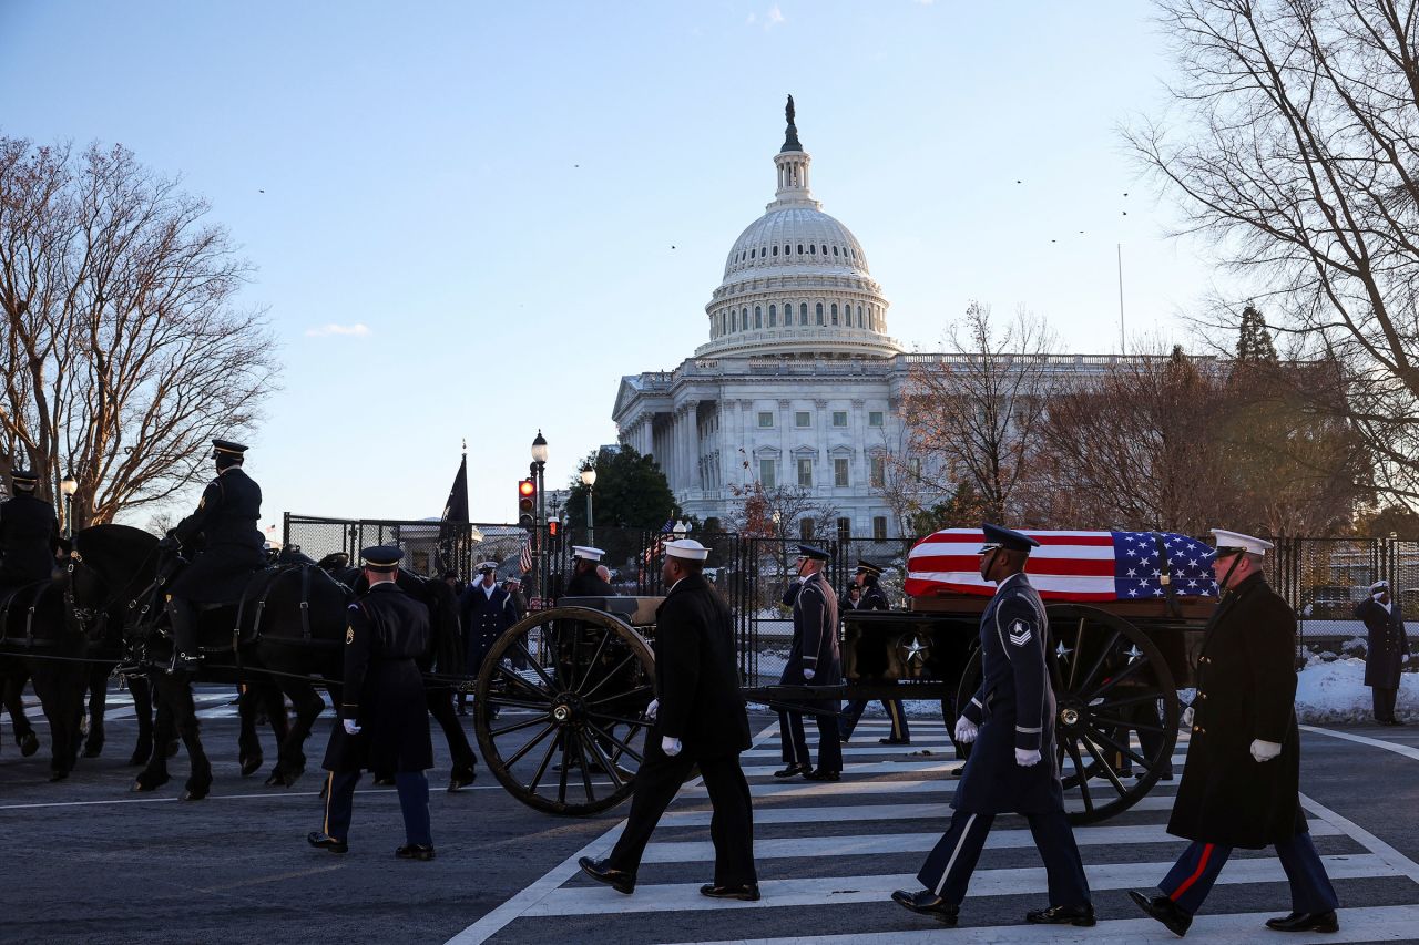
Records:
[[[1084,864],[1064,813],[1054,753],[1054,692],[1046,663],[1044,603],[1025,576],[1039,542],[986,524],[981,578],[995,596],[981,614],[981,688],[956,719],[955,734],[975,742],[945,836],[927,857],[918,892],[891,898],[912,912],[955,925],[961,901],[996,814],[1023,814],[1044,860],[1050,905],[1026,912],[1039,924],[1094,925]]]

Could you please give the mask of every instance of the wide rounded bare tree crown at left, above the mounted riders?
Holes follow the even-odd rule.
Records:
[[[72,472],[74,525],[159,502],[241,437],[277,359],[233,299],[248,265],[207,203],[123,148],[0,138],[0,453]]]

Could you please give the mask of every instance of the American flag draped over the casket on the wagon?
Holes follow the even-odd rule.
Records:
[[[1040,543],[1025,573],[1046,600],[1147,600],[1162,597],[1164,570],[1174,592],[1213,597],[1216,551],[1174,532],[1025,532]],[[993,595],[981,579],[978,528],[946,528],[927,535],[907,555],[905,590],[912,597],[938,593]],[[1159,556],[1166,553],[1166,569]]]

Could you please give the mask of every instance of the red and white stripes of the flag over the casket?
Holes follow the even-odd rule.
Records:
[[[1040,543],[1025,573],[1046,600],[1114,600],[1112,532],[1025,532]],[[993,595],[981,579],[979,528],[946,528],[927,535],[907,555],[905,590],[912,597],[935,593]]]

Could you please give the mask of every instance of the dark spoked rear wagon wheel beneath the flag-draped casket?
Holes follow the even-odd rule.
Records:
[[[1066,807],[1070,823],[1097,823],[1134,806],[1171,769],[1178,688],[1162,653],[1132,623],[1083,604],[1046,612]],[[1141,772],[1125,778],[1122,768]]]

